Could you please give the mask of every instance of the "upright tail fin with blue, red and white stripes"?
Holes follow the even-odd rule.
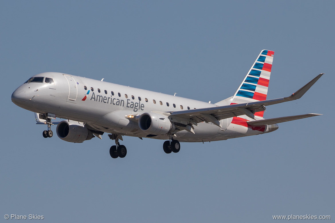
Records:
[[[262,50],[239,88],[230,99],[230,104],[266,100],[273,61],[273,51]],[[264,111],[255,113],[263,117]]]

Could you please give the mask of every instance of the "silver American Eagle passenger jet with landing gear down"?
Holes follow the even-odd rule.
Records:
[[[123,86],[57,72],[29,78],[11,95],[14,104],[35,113],[36,124],[48,126],[43,137],[82,143],[108,133],[112,158],[125,157],[122,136],[165,140],[165,153],[180,151],[180,142],[210,142],[259,135],[278,123],[321,114],[264,119],[266,106],[296,100],[324,74],[288,97],[267,100],[274,52],[262,50],[233,96],[217,103]],[[52,122],[57,118],[64,119]]]

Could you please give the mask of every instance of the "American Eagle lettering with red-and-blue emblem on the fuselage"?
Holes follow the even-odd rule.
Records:
[[[82,101],[86,100],[90,90],[87,91],[86,95],[84,96]],[[113,98],[112,95],[110,97],[102,96],[102,95],[95,95],[94,92],[92,92],[91,99],[96,102],[102,102],[106,104],[113,104],[121,107],[129,107],[132,108],[134,112],[138,110],[144,110],[144,104],[141,103],[141,101],[134,102],[133,100],[127,99],[127,102],[125,103],[125,100],[119,99],[119,98]]]

